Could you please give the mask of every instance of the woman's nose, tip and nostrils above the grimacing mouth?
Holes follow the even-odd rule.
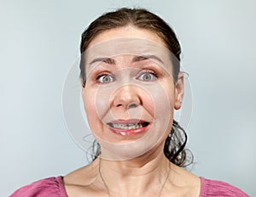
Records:
[[[113,106],[129,110],[141,104],[141,99],[137,93],[137,87],[126,85],[119,87],[113,96]]]

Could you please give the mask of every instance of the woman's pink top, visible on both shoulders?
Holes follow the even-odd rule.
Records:
[[[248,196],[240,189],[221,181],[213,181],[203,177],[201,178],[200,197],[246,197]],[[48,177],[38,182],[26,185],[15,191],[9,197],[67,197],[62,177]]]

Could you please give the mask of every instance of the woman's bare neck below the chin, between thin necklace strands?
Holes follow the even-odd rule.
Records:
[[[102,183],[113,196],[159,196],[170,172],[162,151],[132,160],[97,160]]]

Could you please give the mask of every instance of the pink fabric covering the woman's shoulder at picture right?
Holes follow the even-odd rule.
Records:
[[[247,197],[241,189],[222,181],[209,180],[201,177],[201,197],[207,196],[230,196],[230,197]]]

